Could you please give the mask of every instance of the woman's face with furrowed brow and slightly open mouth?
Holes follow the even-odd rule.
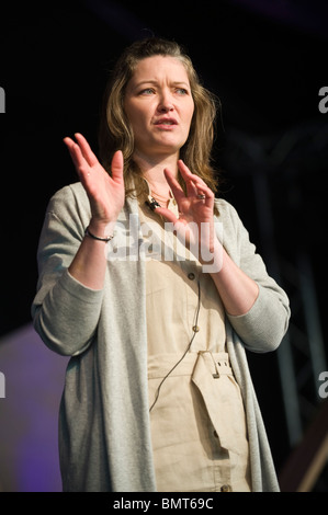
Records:
[[[134,131],[135,153],[145,158],[178,154],[194,112],[183,64],[169,56],[140,60],[127,83],[124,108]]]

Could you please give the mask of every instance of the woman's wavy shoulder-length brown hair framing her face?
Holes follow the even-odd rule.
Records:
[[[124,111],[124,95],[137,64],[142,59],[158,55],[174,57],[185,67],[194,101],[194,113],[189,137],[180,149],[180,158],[215,192],[217,173],[211,165],[211,151],[215,135],[217,99],[201,84],[192,61],[182,47],[167,39],[150,37],[135,42],[118,58],[108,82],[101,111],[99,151],[102,164],[111,172],[112,157],[116,150],[122,150],[126,195],[135,192],[139,197],[147,193],[142,171],[133,159],[134,134]],[[181,176],[179,181],[184,187]]]

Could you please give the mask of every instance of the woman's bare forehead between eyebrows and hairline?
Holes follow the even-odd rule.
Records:
[[[160,80],[163,77],[189,82],[184,65],[171,56],[152,56],[142,59],[136,65],[131,80],[138,82],[139,80]]]

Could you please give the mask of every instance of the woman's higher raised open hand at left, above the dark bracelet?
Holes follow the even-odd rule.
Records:
[[[115,224],[124,205],[123,154],[121,150],[114,153],[110,175],[100,164],[87,139],[79,133],[75,137],[76,141],[67,137],[64,142],[90,202],[90,227],[102,231]]]

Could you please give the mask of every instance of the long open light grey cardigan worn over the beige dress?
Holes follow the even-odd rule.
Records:
[[[227,348],[247,413],[252,491],[279,491],[245,347],[264,353],[279,346],[289,324],[289,299],[268,275],[235,208],[223,199],[216,204],[225,249],[259,285],[248,313],[226,317]],[[138,205],[127,198],[116,236],[124,225],[128,227],[131,214],[138,214]],[[102,290],[80,284],[67,268],[89,220],[89,201],[80,183],[53,196],[39,239],[39,278],[32,306],[34,327],[44,343],[71,356],[59,413],[63,489],[151,492],[156,482],[148,413],[145,261],[109,262]]]

